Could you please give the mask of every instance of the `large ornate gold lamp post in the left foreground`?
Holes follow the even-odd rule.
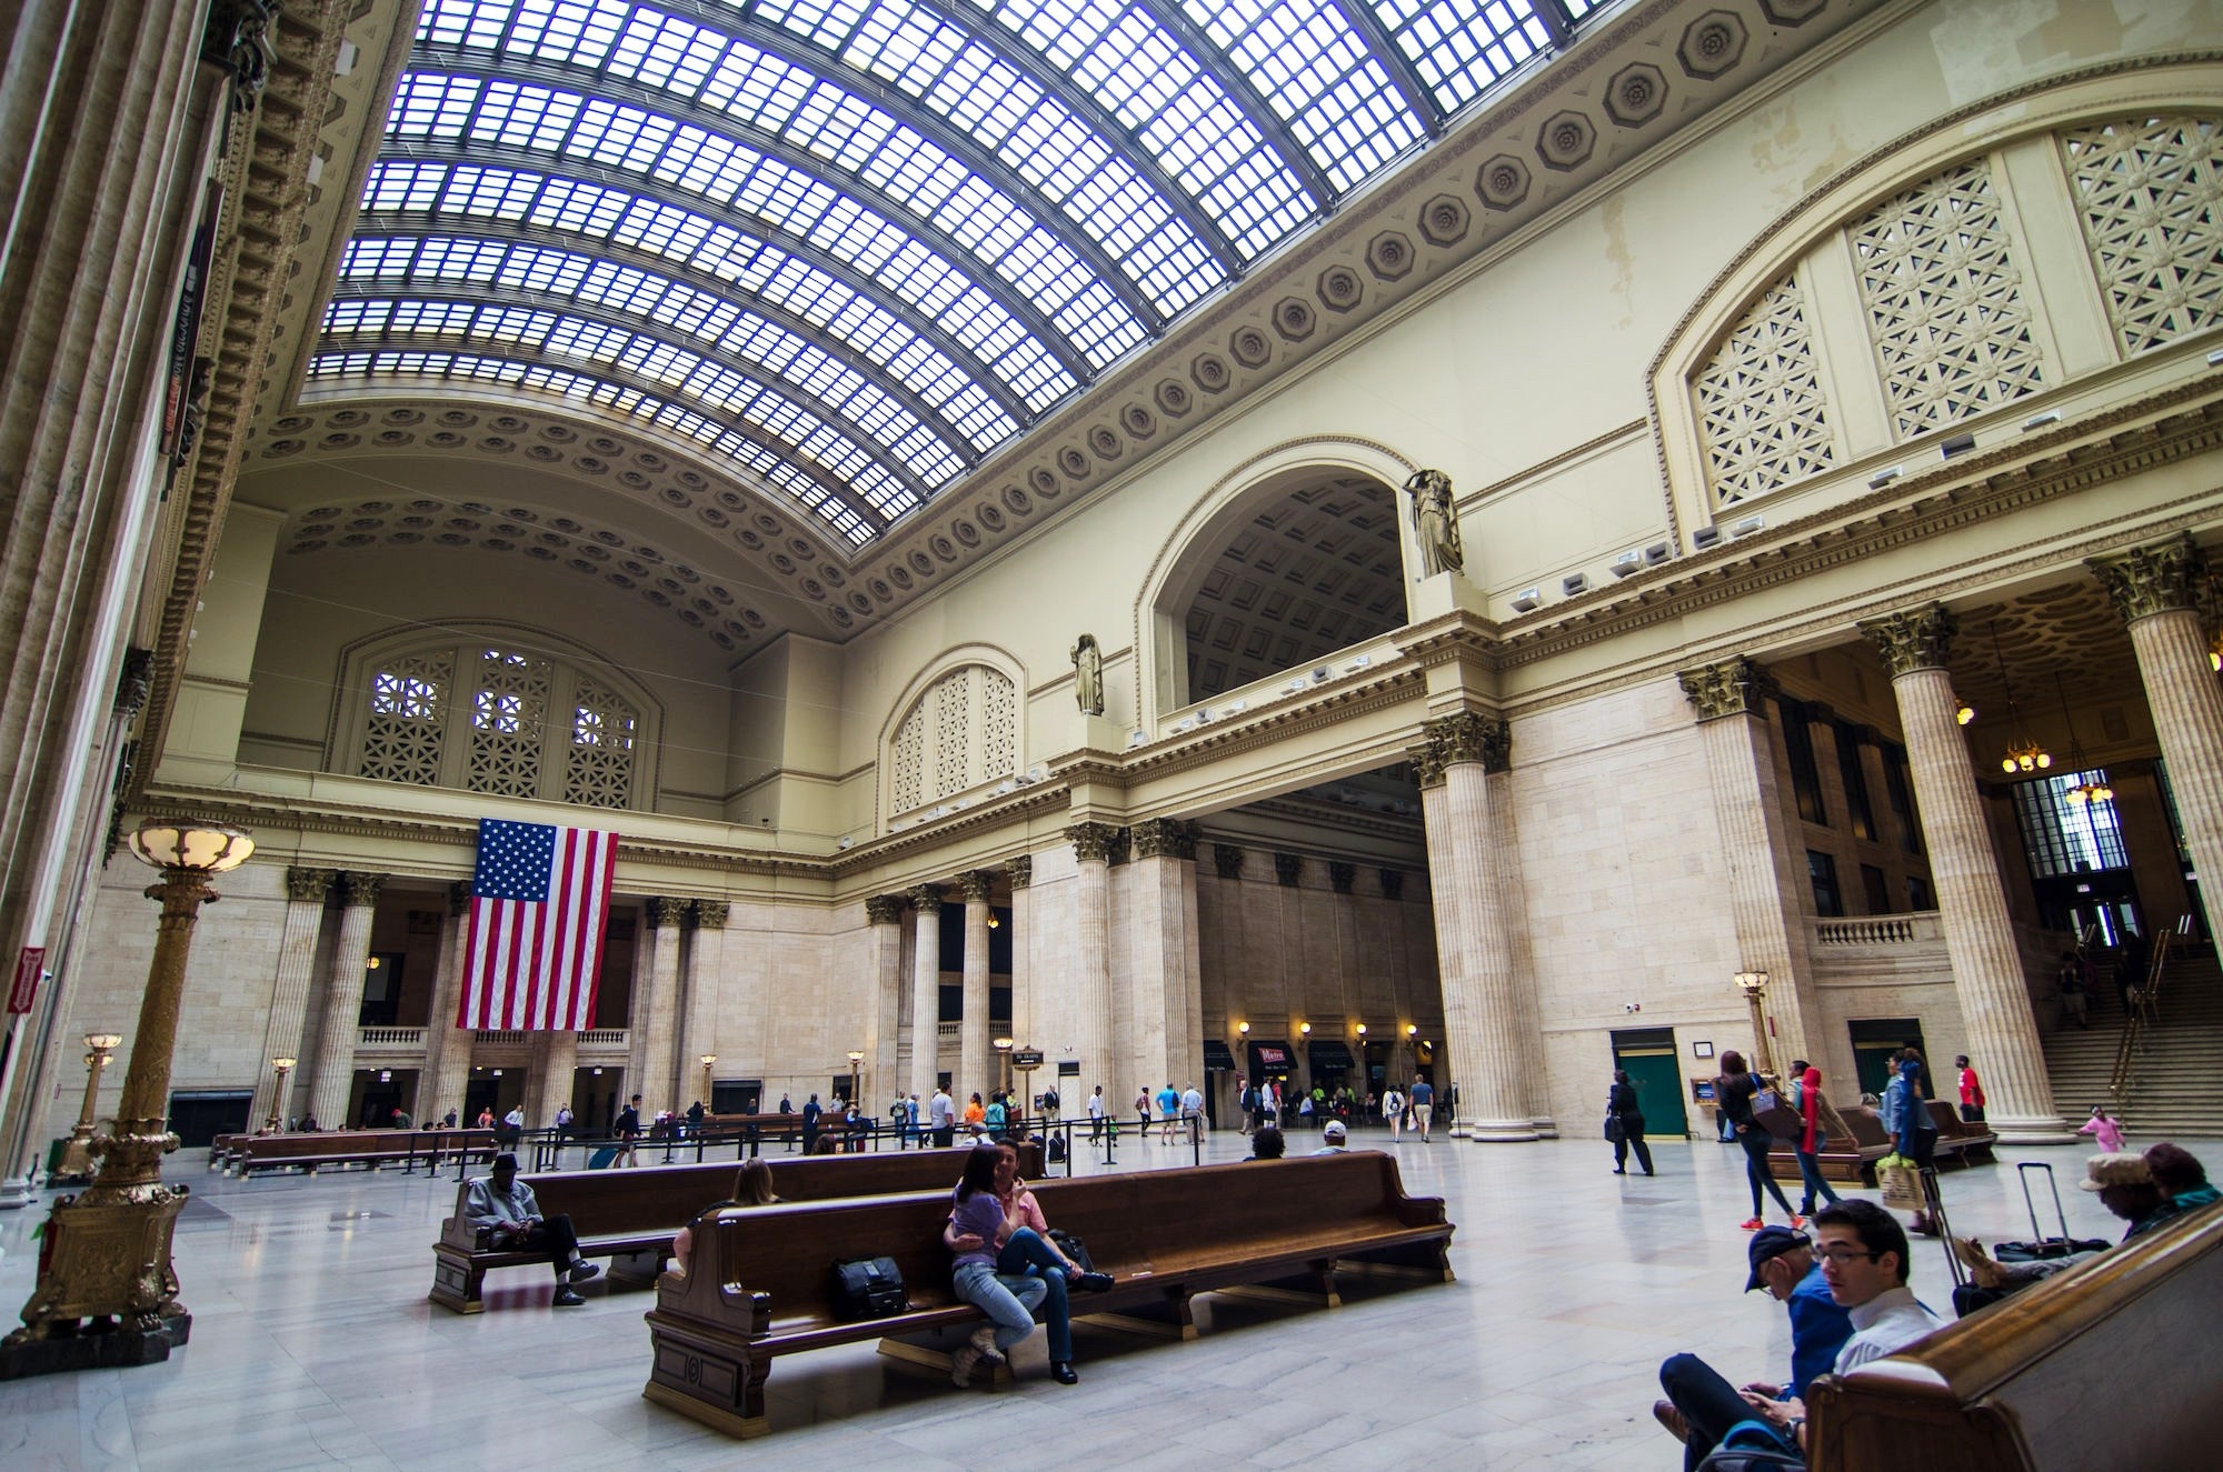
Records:
[[[147,994],[140,998],[131,1065],[113,1132],[96,1134],[93,1183],[62,1196],[47,1216],[47,1250],[22,1327],[0,1345],[0,1379],[142,1365],[169,1359],[193,1327],[178,1303],[169,1261],[171,1230],[187,1187],[162,1185],[162,1156],[178,1147],[169,1132],[169,1058],[178,1045],[185,958],[200,907],[216,901],[213,876],[247,863],[253,838],[216,823],[144,823],[131,852],[162,872],[147,898],[162,903]],[[87,1319],[116,1319],[113,1332],[80,1334]]]

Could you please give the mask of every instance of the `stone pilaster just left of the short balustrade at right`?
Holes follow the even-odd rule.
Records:
[[[1676,680],[1698,712],[1698,745],[1705,749],[1721,858],[1729,874],[1736,965],[1767,972],[1763,1003],[1774,1021],[1774,1036],[1761,1052],[1776,1067],[1787,1067],[1792,1058],[1816,1056],[1807,1018],[1818,1016],[1818,1009],[1796,867],[1805,856],[1805,841],[1785,818],[1776,754],[1767,738],[1774,683],[1747,658],[1683,669]],[[1723,1007],[1745,1001],[1732,976],[1718,976],[1714,985]]]

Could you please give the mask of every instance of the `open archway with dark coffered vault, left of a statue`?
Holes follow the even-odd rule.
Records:
[[[1372,440],[1312,438],[1232,469],[1160,547],[1136,603],[1138,720],[1407,623],[1400,487]]]

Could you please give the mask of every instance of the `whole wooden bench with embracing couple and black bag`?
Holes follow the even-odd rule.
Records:
[[[1112,1292],[1074,1303],[1076,1316],[1114,1327],[1189,1339],[1200,1292],[1334,1305],[1338,1265],[1452,1279],[1443,1201],[1407,1196],[1396,1161],[1372,1150],[1049,1181],[1036,1199],[1116,1279]],[[983,1319],[951,1294],[947,1219],[947,1190],[705,1214],[689,1274],[658,1279],[642,1394],[760,1436],[765,1379],[782,1354],[878,1339],[898,1361],[947,1367],[938,1341]],[[898,1263],[907,1312],[836,1316],[831,1267],[854,1256]]]

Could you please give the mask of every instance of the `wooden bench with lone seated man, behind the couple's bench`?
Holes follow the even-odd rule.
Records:
[[[782,1156],[765,1161],[771,1167],[771,1190],[785,1201],[829,1201],[836,1196],[887,1196],[894,1192],[951,1192],[965,1170],[956,1150],[905,1150],[889,1154]],[[649,1165],[640,1170],[562,1170],[518,1176],[534,1187],[542,1216],[569,1216],[585,1256],[611,1259],[611,1276],[647,1283],[665,1259],[671,1239],[705,1207],[734,1196],[734,1161],[702,1165]],[[1034,1176],[1043,1170],[1040,1145],[1025,1145],[1018,1170]],[[456,1214],[440,1223],[433,1243],[431,1292],[440,1307],[476,1314],[485,1307],[480,1290],[491,1267],[547,1267],[545,1252],[489,1247],[465,1214],[469,1183],[456,1187]]]

